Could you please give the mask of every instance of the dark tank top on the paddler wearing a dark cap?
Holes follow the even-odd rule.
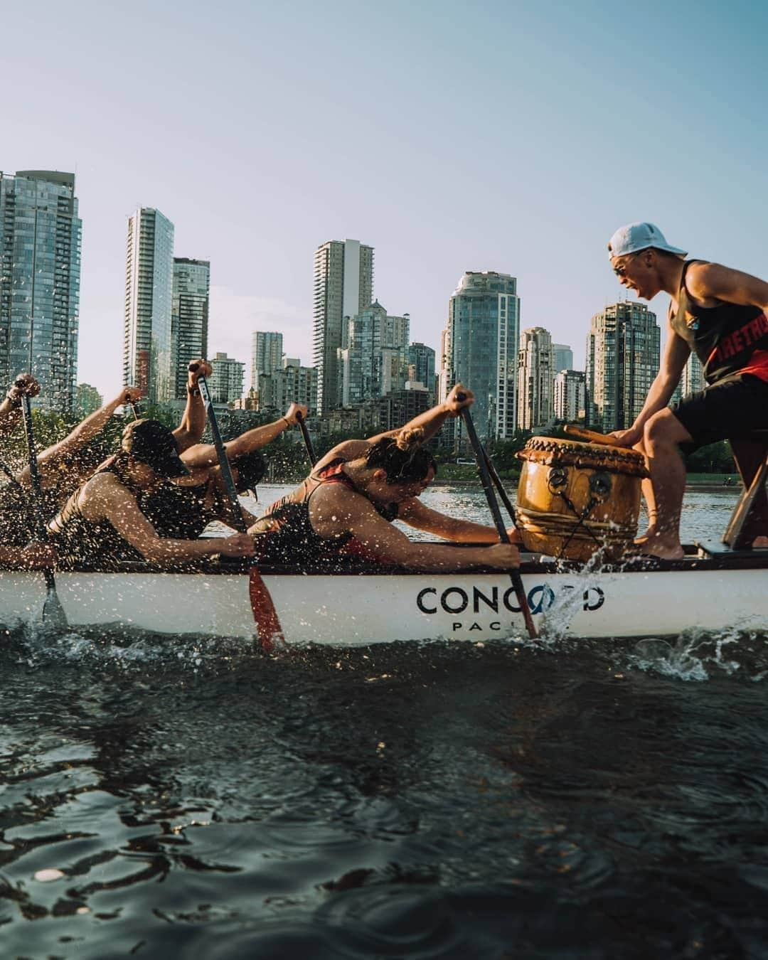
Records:
[[[139,510],[143,512],[145,493],[122,475],[123,464],[124,461],[118,454],[108,467],[97,470],[93,476],[113,473],[120,483],[132,492]],[[89,478],[92,479],[93,477]],[[109,569],[125,561],[143,560],[138,550],[132,547],[128,540],[124,540],[108,520],[88,520],[83,516],[78,499],[87,483],[88,480],[78,487],[48,524],[48,532],[60,563],[67,566],[79,563],[98,564],[102,569]]]

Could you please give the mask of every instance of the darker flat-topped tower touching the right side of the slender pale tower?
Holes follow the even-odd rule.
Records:
[[[174,257],[171,339],[174,396],[186,396],[189,362],[208,352],[208,291],[210,261]]]

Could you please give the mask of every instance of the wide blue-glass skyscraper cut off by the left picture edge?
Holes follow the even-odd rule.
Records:
[[[82,228],[74,174],[0,173],[0,382],[32,372],[45,410],[74,402]]]

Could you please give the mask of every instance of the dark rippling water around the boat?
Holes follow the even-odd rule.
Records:
[[[768,956],[766,637],[15,630],[0,669],[3,958]]]

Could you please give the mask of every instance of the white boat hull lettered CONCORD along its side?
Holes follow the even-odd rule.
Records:
[[[246,573],[60,572],[56,579],[73,628],[268,639]],[[671,636],[691,627],[768,633],[765,568],[531,572],[522,579],[548,636]],[[525,636],[506,574],[267,573],[263,582],[289,645]],[[44,598],[42,575],[0,573],[0,622],[36,619]]]

